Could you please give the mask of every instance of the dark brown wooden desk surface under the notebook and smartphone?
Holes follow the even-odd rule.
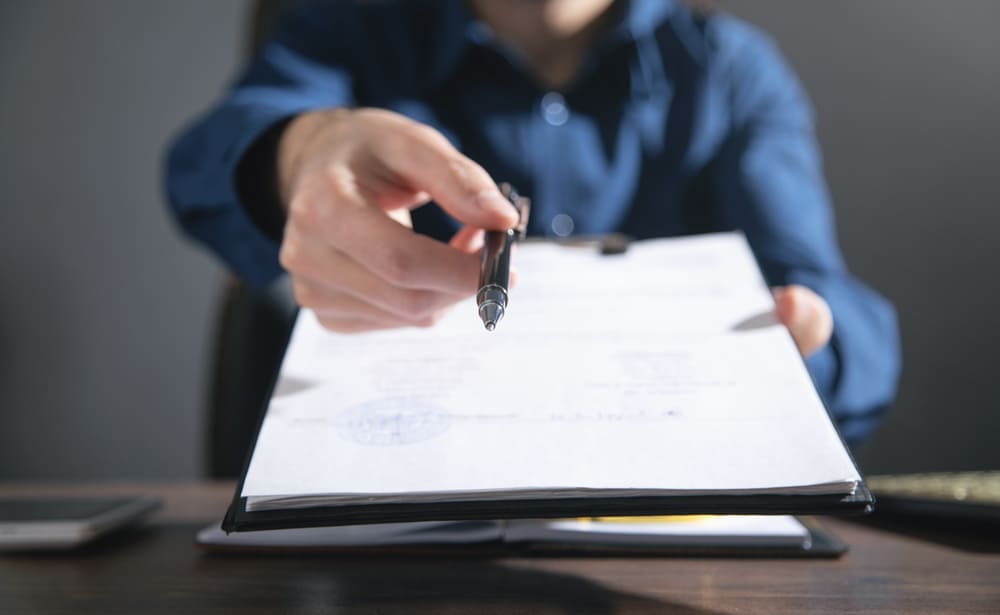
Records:
[[[966,536],[986,551],[971,552],[824,520],[851,545],[839,560],[206,554],[194,533],[232,488],[0,486],[165,503],[146,529],[79,552],[0,555],[0,613],[1000,613],[997,536]]]

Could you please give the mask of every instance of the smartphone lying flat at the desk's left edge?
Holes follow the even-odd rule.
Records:
[[[0,498],[0,551],[76,547],[137,523],[159,505],[146,496]]]

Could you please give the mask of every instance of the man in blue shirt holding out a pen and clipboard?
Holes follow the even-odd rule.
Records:
[[[738,229],[845,438],[894,394],[891,305],[847,270],[806,94],[757,29],[668,0],[308,3],[173,145],[169,201],[331,330],[430,326],[482,229]]]

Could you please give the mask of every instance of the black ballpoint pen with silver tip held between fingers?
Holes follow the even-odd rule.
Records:
[[[519,195],[510,184],[500,184],[500,192],[517,209],[518,223],[505,231],[487,231],[479,265],[479,292],[476,307],[487,331],[496,328],[507,310],[510,288],[510,250],[524,237],[531,201]]]

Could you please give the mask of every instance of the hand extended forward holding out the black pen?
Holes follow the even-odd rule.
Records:
[[[299,305],[333,331],[433,324],[476,291],[480,229],[517,223],[482,167],[390,111],[305,113],[282,135],[278,167],[281,264]],[[450,244],[411,228],[410,209],[431,199],[466,225]]]

